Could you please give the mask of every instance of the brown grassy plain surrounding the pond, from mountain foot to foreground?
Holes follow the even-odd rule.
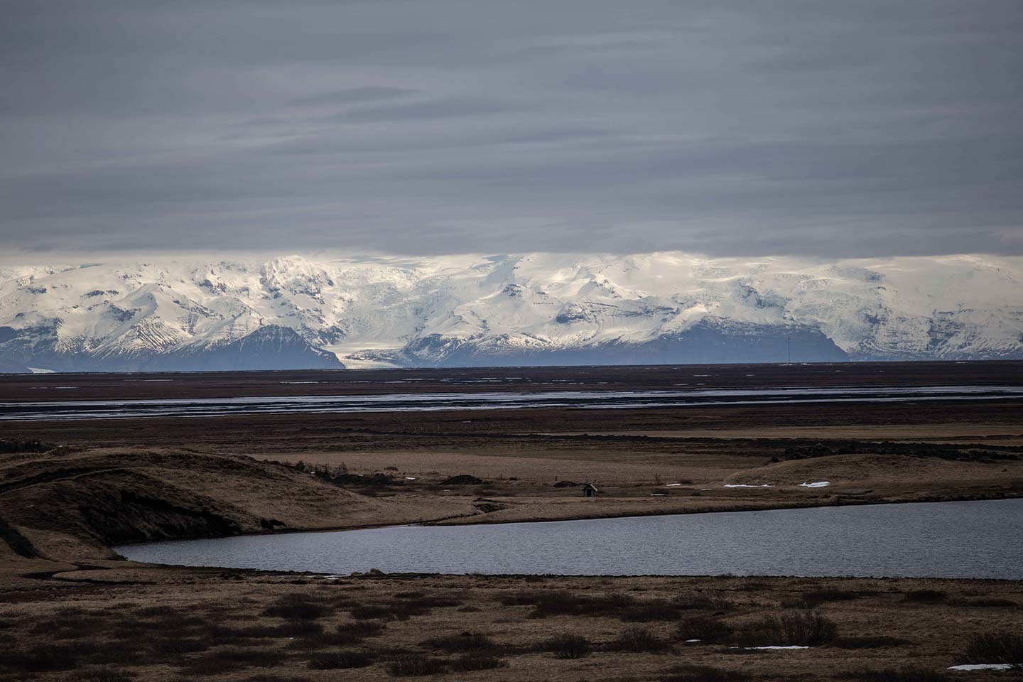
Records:
[[[0,402],[679,384],[1023,385],[1023,363],[11,376]],[[108,549],[1020,497],[1023,409],[1009,397],[9,420],[0,439],[2,679],[908,682],[1006,679],[945,669],[1019,662],[1014,581],[342,577],[153,566]],[[572,485],[585,482],[597,499]],[[814,482],[829,485],[800,485]]]

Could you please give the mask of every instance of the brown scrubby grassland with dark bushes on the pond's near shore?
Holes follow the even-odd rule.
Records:
[[[1017,655],[1023,618],[1023,586],[1002,581],[30,570],[41,563],[0,576],[0,680],[923,682]],[[753,648],[783,645],[809,648]]]

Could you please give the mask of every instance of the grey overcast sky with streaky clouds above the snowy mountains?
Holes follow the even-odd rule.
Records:
[[[1023,253],[1020,0],[0,0],[0,251]]]

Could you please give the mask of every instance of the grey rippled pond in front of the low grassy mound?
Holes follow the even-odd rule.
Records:
[[[338,574],[375,567],[388,573],[1023,580],[1023,499],[402,526],[116,549],[129,559],[154,563]]]

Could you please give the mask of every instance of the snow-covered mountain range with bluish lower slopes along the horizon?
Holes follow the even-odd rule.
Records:
[[[0,371],[1023,358],[1023,258],[0,266]]]

